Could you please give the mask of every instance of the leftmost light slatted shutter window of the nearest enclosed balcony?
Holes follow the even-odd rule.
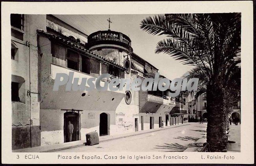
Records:
[[[62,45],[51,44],[52,63],[66,67],[66,49]]]

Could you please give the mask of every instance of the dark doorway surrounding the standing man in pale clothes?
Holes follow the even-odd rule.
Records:
[[[64,133],[64,143],[69,142],[68,136],[68,124],[69,121],[73,124],[74,130],[72,134],[72,141],[79,140],[79,114],[76,112],[65,112],[64,113],[64,126],[63,126],[63,133]]]

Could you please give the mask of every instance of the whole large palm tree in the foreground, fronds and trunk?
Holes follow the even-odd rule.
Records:
[[[240,63],[241,14],[165,14],[147,17],[141,29],[167,39],[157,43],[155,53],[166,53],[183,64],[195,66],[206,90],[207,142],[211,152],[226,151],[224,103],[231,71]]]

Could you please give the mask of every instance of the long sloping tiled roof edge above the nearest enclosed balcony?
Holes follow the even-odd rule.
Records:
[[[74,41],[70,40],[69,37],[67,37],[67,36],[64,36],[64,35],[57,36],[57,35],[51,34],[49,32],[42,31],[42,30],[37,30],[37,33],[39,35],[47,36],[50,39],[59,40],[59,42],[65,43],[65,44],[69,45],[70,47],[75,47],[79,51],[85,52],[85,53],[87,53],[87,54],[97,58],[98,60],[105,61],[105,62],[110,63],[110,64],[112,64],[114,66],[117,66],[117,67],[119,67],[121,69],[127,70],[122,65],[119,65],[119,64],[109,60],[108,58],[104,58],[102,56],[99,56],[98,54],[95,54],[94,52],[91,52],[91,51],[81,47],[81,45],[83,46],[84,44],[79,43],[79,42],[74,42]]]

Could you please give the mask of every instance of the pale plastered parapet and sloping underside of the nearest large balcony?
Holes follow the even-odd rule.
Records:
[[[42,109],[77,109],[77,110],[115,110],[125,96],[125,87],[122,91],[106,90],[100,92],[94,88],[90,91],[66,91],[66,85],[59,86],[58,91],[53,91],[54,81],[57,73],[74,72],[74,78],[79,78],[78,85],[82,78],[96,78],[95,76],[85,74],[76,70],[68,69],[58,65],[51,64],[50,76],[41,81],[41,108]],[[95,81],[93,81],[95,83]],[[104,86],[104,81],[100,81],[100,86]],[[86,87],[88,85],[86,84]]]

